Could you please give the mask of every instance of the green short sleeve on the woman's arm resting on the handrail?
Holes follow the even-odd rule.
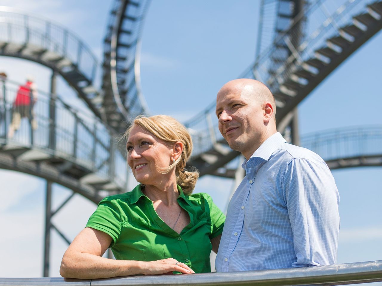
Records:
[[[121,232],[121,215],[117,204],[107,198],[102,200],[89,218],[86,227],[91,227],[110,235],[113,240],[110,244],[110,247],[112,247]]]

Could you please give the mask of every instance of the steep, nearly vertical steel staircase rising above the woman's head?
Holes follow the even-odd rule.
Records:
[[[115,0],[104,39],[102,89],[106,122],[117,132],[147,113],[140,83],[140,37],[149,0]]]

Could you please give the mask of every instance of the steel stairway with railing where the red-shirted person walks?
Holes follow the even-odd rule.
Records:
[[[25,117],[10,137],[18,86],[8,81],[0,102],[0,168],[59,183],[95,203],[106,194],[125,192],[125,154],[117,148],[119,143],[111,130],[59,97],[52,101],[51,95],[38,92],[37,103],[30,107],[37,129],[32,128],[31,117]]]

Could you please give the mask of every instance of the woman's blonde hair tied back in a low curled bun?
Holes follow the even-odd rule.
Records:
[[[199,172],[194,167],[188,167],[186,170],[186,162],[192,153],[192,138],[186,127],[176,119],[167,115],[154,115],[150,117],[138,116],[134,119],[133,124],[126,130],[124,137],[129,137],[134,126],[139,126],[143,130],[153,134],[155,137],[167,143],[182,142],[183,151],[176,161],[168,166],[165,170],[159,170],[163,174],[170,172],[175,165],[176,183],[180,185],[185,194],[191,194],[195,188],[196,181],[199,178]]]

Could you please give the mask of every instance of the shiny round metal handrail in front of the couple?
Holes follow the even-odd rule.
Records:
[[[108,279],[0,278],[0,286],[241,286],[340,285],[382,281],[382,260],[242,272],[126,276]]]

